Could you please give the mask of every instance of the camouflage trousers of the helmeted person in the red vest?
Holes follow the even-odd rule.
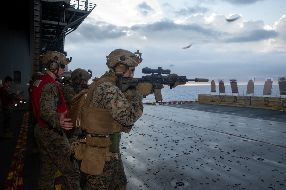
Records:
[[[70,146],[67,137],[49,130],[45,126],[35,126],[35,139],[39,147],[42,168],[39,176],[38,189],[53,190],[57,169],[61,172],[66,189],[80,189],[78,164],[70,160]]]

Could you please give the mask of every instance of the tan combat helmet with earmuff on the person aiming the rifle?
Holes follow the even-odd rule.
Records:
[[[142,62],[141,55],[139,50],[132,53],[128,50],[116,49],[106,56],[106,65],[117,77],[122,77],[127,70],[137,67]]]

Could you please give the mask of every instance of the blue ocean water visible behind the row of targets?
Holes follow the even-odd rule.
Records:
[[[264,85],[254,85],[254,96],[262,96]],[[246,89],[247,85],[238,85],[237,86],[238,92],[240,96],[245,95],[246,96]],[[217,95],[219,86],[216,85],[216,91]],[[272,95],[271,97],[280,97],[279,95],[279,86],[273,85],[272,86]],[[173,89],[170,89],[169,86],[164,85],[164,88],[161,90],[163,102],[164,101],[194,101],[198,100],[198,94],[210,94],[210,85],[180,85]],[[231,94],[231,86],[225,85],[225,93],[221,93],[221,95],[232,95]],[[212,95],[215,95],[215,93],[212,93]],[[233,95],[238,95],[237,93],[234,93]],[[253,96],[253,94],[248,94],[249,96]],[[270,97],[267,95],[264,95],[264,97]],[[281,96],[285,97],[285,95]],[[143,98],[143,103],[147,102],[155,102],[154,94],[148,95],[146,98]]]

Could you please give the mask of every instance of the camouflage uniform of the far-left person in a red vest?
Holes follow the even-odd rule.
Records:
[[[1,84],[4,85],[4,84]],[[1,96],[5,96],[11,100],[17,99],[18,96],[15,93],[12,93],[9,87],[3,87],[1,89]],[[3,132],[9,132],[12,122],[13,122],[13,104],[3,104],[3,100],[1,100],[1,110],[4,114],[4,121],[3,121]]]

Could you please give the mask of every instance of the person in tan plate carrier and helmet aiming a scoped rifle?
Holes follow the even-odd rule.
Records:
[[[120,134],[129,133],[142,116],[143,97],[159,94],[163,84],[174,88],[190,80],[177,74],[162,76],[166,73],[159,68],[145,68],[147,73],[153,74],[133,78],[135,67],[142,62],[139,50],[132,53],[116,49],[106,60],[109,71],[97,78],[87,92],[82,91],[73,98],[70,118],[76,127],[82,128],[83,135],[72,144],[71,150],[76,159],[82,160],[81,171],[87,173],[87,189],[126,189],[127,179],[119,151]]]

